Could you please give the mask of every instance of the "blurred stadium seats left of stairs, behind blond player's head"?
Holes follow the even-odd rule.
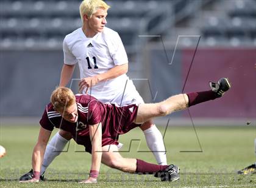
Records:
[[[149,29],[154,29],[154,25],[157,27],[158,20],[154,20],[154,17],[162,14],[160,12],[166,10],[166,4],[169,5],[168,1],[154,0],[107,3],[112,7],[108,11],[107,27],[119,32],[127,48],[134,44],[139,34],[148,33]],[[31,41],[32,38],[34,42],[31,48],[41,48],[41,41],[48,41],[49,38],[62,44],[65,35],[81,25],[79,4],[80,1],[68,0],[1,1],[0,39],[4,42],[0,47],[6,49],[13,45],[18,48],[22,46],[20,42]],[[48,48],[48,42],[45,42],[45,47]]]

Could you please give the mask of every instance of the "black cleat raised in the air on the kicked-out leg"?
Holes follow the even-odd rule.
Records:
[[[229,90],[231,87],[228,78],[221,78],[219,79],[218,83],[209,82],[209,84],[210,88],[213,92],[216,93],[217,97],[221,97],[222,95],[224,95],[224,93],[227,92],[227,90]]]

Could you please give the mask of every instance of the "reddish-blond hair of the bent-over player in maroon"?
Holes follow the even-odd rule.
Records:
[[[51,102],[55,110],[63,112],[63,110],[76,102],[76,97],[71,89],[67,87],[57,87],[52,92]]]

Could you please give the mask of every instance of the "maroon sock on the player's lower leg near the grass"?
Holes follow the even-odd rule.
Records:
[[[152,174],[159,170],[165,170],[168,165],[151,164],[140,159],[137,159],[136,173]]]

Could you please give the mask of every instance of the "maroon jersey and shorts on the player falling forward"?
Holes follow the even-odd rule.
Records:
[[[134,124],[138,106],[118,107],[115,104],[102,104],[90,95],[76,95],[78,119],[70,123],[53,109],[51,103],[46,106],[40,120],[41,127],[52,131],[54,127],[66,130],[73,135],[77,144],[84,145],[91,153],[91,140],[88,126],[102,123],[102,146],[118,145],[118,136],[129,132],[140,124]]]

